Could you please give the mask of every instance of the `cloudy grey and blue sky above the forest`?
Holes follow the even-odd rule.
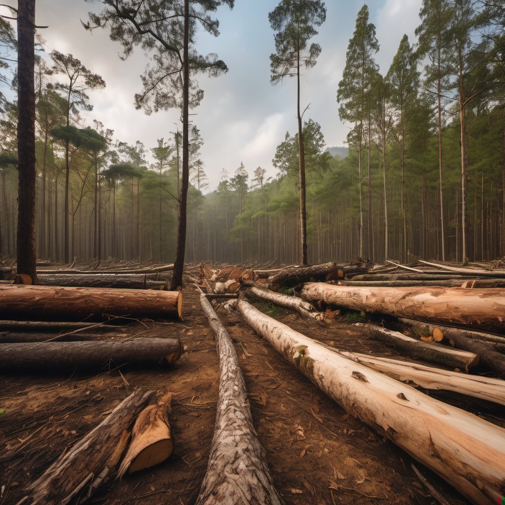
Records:
[[[401,37],[415,41],[422,0],[370,0],[370,22],[377,29],[380,51],[376,61],[385,74],[395,55]],[[286,79],[270,83],[270,54],[274,51],[273,32],[268,13],[278,0],[236,0],[232,11],[221,8],[220,36],[200,32],[200,53],[217,53],[227,64],[227,74],[217,78],[200,78],[205,90],[201,105],[190,111],[191,120],[204,139],[201,160],[209,178],[209,189],[217,187],[223,168],[233,175],[243,162],[250,175],[256,167],[274,176],[272,158],[286,131],[296,131],[296,82]],[[309,106],[304,120],[317,121],[328,146],[345,145],[349,125],[338,118],[336,92],[345,66],[349,38],[355,29],[356,16],[363,6],[357,0],[326,0],[326,22],[313,41],[322,47],[316,67],[306,70],[301,78],[301,108]],[[176,110],[150,116],[135,110],[133,96],[141,89],[140,75],[148,56],[136,48],[126,61],[119,58],[121,47],[109,38],[106,30],[87,32],[81,20],[88,11],[98,11],[100,3],[83,0],[37,0],[36,23],[47,25],[41,30],[48,54],[57,49],[71,53],[89,70],[101,75],[107,83],[103,90],[91,91],[92,112],[81,113],[84,125],[93,119],[114,130],[116,139],[134,143],[140,140],[146,148],[155,147],[157,139],[171,137],[181,127]],[[6,12],[7,14],[7,12]]]

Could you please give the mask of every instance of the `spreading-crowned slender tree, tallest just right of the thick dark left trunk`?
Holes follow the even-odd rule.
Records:
[[[51,53],[53,59],[53,73],[64,76],[65,82],[58,82],[54,88],[66,98],[65,116],[66,126],[70,126],[70,115],[79,109],[91,111],[93,106],[89,103],[87,91],[90,89],[104,88],[105,81],[98,74],[90,72],[82,63],[72,55],[64,55],[59,51]],[[70,139],[65,139],[65,205],[64,205],[64,225],[63,225],[63,251],[65,262],[69,261],[69,177],[70,162],[69,150]]]

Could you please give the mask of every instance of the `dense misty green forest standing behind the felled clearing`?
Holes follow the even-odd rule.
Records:
[[[381,75],[374,61],[380,41],[367,7],[360,10],[335,83],[335,121],[340,116],[350,128],[348,155],[326,151],[317,118],[303,125],[310,263],[406,261],[408,251],[459,262],[505,256],[504,21],[499,2],[425,0],[418,41],[404,37]],[[2,79],[12,86],[15,40],[2,20]],[[151,145],[129,145],[107,125],[84,124],[79,111],[92,109],[87,93],[105,82],[78,56],[54,51],[37,59],[37,255],[172,261],[181,135],[160,132]],[[0,252],[10,257],[16,114],[4,96]],[[212,192],[199,155],[205,139],[196,126],[190,136],[186,261],[297,263],[296,126],[272,153],[274,178],[240,164],[223,169]]]

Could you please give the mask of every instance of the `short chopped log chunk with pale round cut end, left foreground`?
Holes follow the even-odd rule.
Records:
[[[118,477],[154,467],[172,455],[174,441],[168,420],[171,401],[172,393],[167,393],[156,405],[149,405],[138,415]]]

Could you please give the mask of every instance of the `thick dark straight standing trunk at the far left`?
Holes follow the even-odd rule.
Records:
[[[37,284],[35,251],[35,0],[19,0],[18,28],[18,273]]]

